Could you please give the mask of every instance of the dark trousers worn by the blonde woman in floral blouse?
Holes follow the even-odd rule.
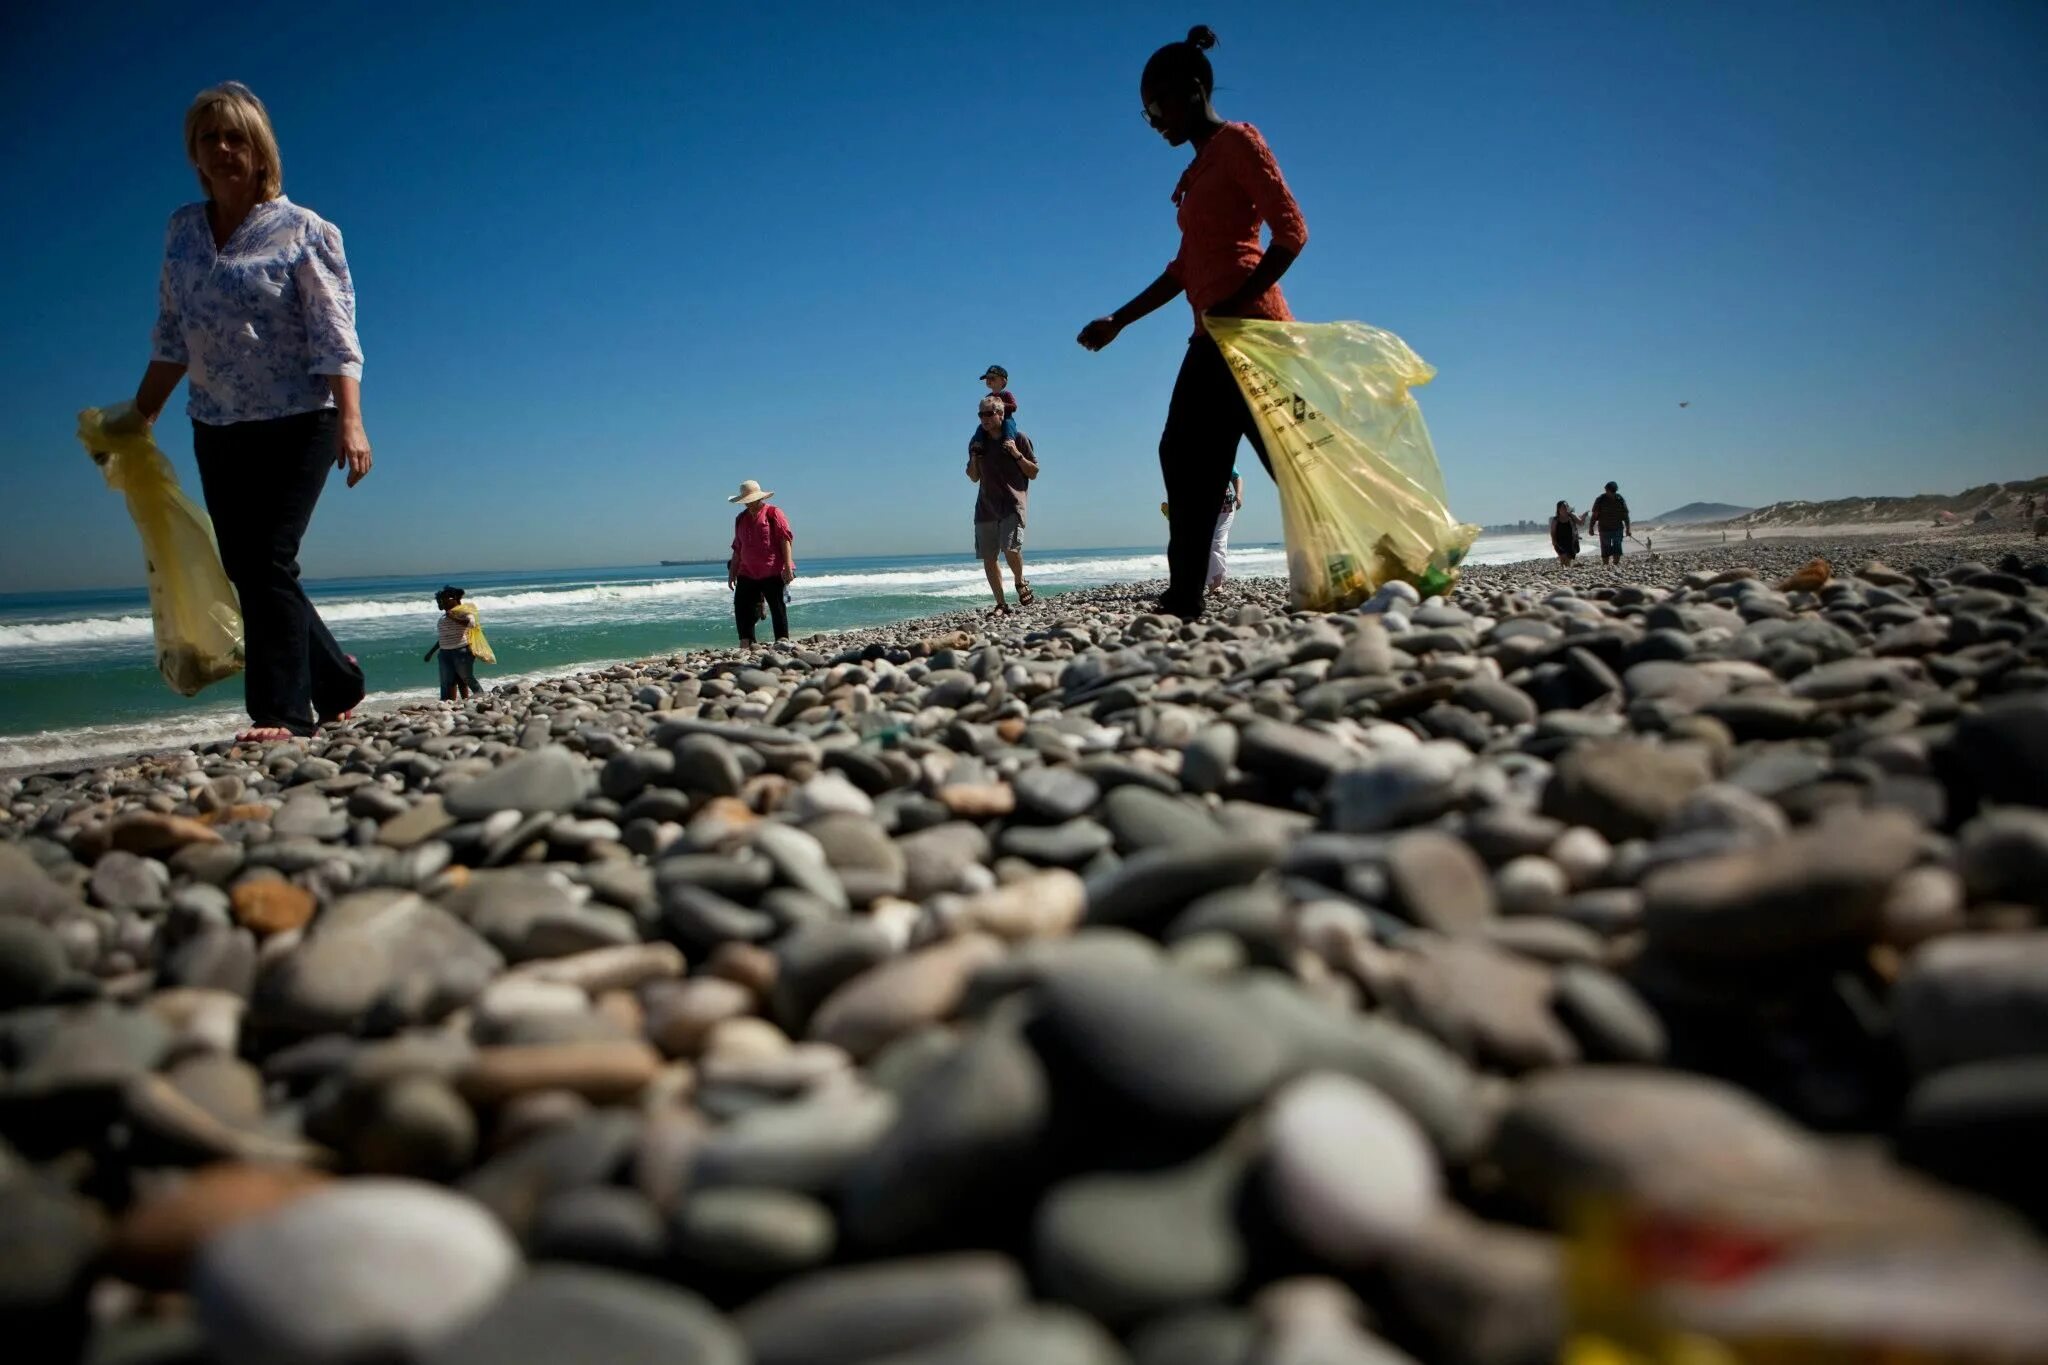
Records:
[[[242,598],[250,720],[311,735],[362,700],[362,669],[299,587],[299,538],[334,469],[334,409],[193,424],[193,454],[221,567]]]

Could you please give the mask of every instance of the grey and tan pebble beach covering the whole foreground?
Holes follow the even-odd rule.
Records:
[[[2044,1359],[2048,542],[1157,589],[0,780],[14,1359]]]

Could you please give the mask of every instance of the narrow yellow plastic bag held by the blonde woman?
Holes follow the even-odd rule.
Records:
[[[213,522],[178,489],[178,471],[156,448],[131,403],[78,413],[78,440],[127,497],[141,534],[156,622],[156,667],[178,696],[242,671],[242,606],[221,569]]]

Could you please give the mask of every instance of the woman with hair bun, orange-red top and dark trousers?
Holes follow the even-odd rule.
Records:
[[[1188,295],[1194,307],[1194,336],[1159,436],[1159,471],[1174,510],[1167,516],[1167,591],[1159,610],[1188,620],[1202,614],[1217,505],[1231,483],[1239,436],[1251,438],[1260,463],[1272,473],[1251,407],[1223,352],[1202,329],[1202,317],[1292,317],[1280,276],[1309,241],[1300,207],[1266,139],[1249,123],[1225,123],[1208,102],[1217,76],[1202,53],[1214,45],[1214,31],[1196,25],[1186,41],[1155,51],[1139,80],[1145,121],[1153,131],[1174,147],[1194,143],[1194,162],[1174,188],[1180,254],[1145,293],[1087,323],[1079,336],[1087,350],[1102,350],[1176,295]],[[1262,225],[1272,233],[1264,248]]]

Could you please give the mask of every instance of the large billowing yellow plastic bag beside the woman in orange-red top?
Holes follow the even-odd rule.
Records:
[[[1448,591],[1479,536],[1444,505],[1411,389],[1436,377],[1407,342],[1356,321],[1208,317],[1280,485],[1296,608],[1354,608],[1403,579]]]

